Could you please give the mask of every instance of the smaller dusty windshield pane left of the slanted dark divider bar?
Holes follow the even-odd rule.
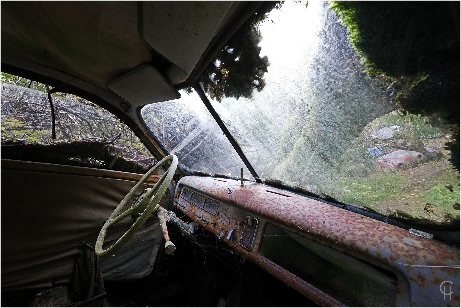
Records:
[[[144,106],[142,117],[187,171],[240,176],[242,160],[195,91],[183,93],[177,100]],[[246,168],[243,176],[253,181]]]

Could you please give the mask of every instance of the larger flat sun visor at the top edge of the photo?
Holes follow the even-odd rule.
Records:
[[[236,1],[142,1],[140,34],[150,47],[190,75]]]

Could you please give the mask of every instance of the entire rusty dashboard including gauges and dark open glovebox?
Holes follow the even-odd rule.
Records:
[[[174,201],[241,262],[321,306],[445,306],[441,283],[460,281],[448,244],[264,184],[186,176]]]

